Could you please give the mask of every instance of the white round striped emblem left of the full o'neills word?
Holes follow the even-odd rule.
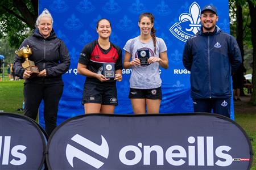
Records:
[[[106,142],[106,139],[101,135],[101,145],[97,145],[96,143],[89,141],[88,139],[82,137],[79,134],[74,135],[71,138],[72,141],[80,144],[81,146],[84,146],[88,148],[89,150],[95,152],[98,155],[101,155],[104,158],[108,158],[109,156],[109,145]],[[71,145],[67,145],[66,147],[66,158],[68,160],[68,163],[74,168],[73,166],[73,158],[77,158],[82,160],[85,163],[88,163],[89,165],[92,165],[94,168],[100,168],[104,164],[100,160],[93,158],[92,156],[86,154],[85,152],[77,149],[76,147],[73,147]]]

